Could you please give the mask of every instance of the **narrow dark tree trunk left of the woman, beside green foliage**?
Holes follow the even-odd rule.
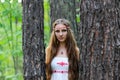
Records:
[[[43,0],[23,0],[24,80],[45,80]]]

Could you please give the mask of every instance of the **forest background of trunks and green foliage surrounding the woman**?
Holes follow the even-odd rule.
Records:
[[[43,48],[61,16],[80,48],[80,80],[120,80],[119,0],[0,0],[0,80],[45,80]]]

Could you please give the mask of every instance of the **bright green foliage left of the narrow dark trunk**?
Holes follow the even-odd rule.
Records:
[[[23,80],[22,6],[0,2],[0,80]]]

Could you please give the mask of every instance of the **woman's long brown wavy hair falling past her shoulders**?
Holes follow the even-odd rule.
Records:
[[[59,47],[59,41],[57,40],[54,28],[57,24],[63,24],[67,27],[67,38],[65,41],[65,47],[67,49],[67,56],[69,61],[68,78],[69,80],[78,80],[79,77],[79,49],[76,44],[76,40],[73,35],[73,31],[70,28],[70,22],[66,19],[57,19],[53,23],[53,31],[48,47],[46,48],[46,76],[47,80],[50,80],[52,70],[51,61],[56,56]]]

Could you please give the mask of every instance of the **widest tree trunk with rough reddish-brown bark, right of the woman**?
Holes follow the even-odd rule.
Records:
[[[81,0],[80,79],[120,80],[120,1]]]

